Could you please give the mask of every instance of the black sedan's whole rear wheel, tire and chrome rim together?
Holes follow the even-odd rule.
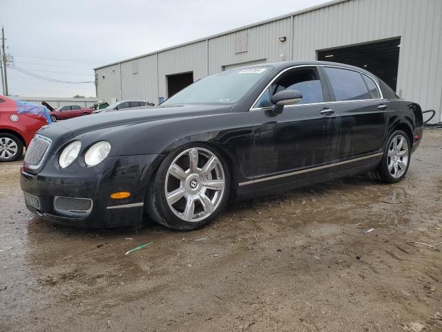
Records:
[[[396,130],[392,133],[376,169],[381,181],[397,183],[405,177],[410,166],[411,147],[410,138],[404,131]]]

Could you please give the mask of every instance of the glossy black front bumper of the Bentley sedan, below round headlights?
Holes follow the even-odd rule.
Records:
[[[55,223],[90,228],[140,225],[148,182],[162,158],[157,154],[108,157],[95,167],[77,160],[61,169],[58,156],[51,156],[38,174],[21,172],[21,190],[38,200],[32,203],[28,196],[26,207],[31,212]],[[131,196],[111,199],[114,192],[131,192]],[[92,203],[90,209],[72,213],[56,208],[57,197]]]

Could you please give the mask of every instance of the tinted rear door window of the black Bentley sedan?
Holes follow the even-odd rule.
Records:
[[[361,73],[348,69],[324,67],[336,101],[371,99]]]

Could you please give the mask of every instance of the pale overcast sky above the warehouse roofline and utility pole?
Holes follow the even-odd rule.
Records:
[[[93,68],[324,3],[325,0],[0,0],[6,53],[30,73],[69,82]],[[95,97],[95,85],[8,68],[12,95]],[[0,92],[1,93],[1,92]]]

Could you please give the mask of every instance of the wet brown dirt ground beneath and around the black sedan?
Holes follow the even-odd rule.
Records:
[[[52,225],[20,165],[0,164],[0,331],[442,331],[442,244],[416,243],[442,241],[442,131],[401,183],[236,203],[194,232]]]

